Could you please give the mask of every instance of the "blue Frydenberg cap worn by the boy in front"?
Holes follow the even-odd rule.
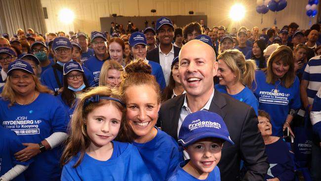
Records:
[[[216,137],[234,144],[222,117],[218,114],[197,111],[187,115],[179,130],[178,143],[189,146],[206,137]]]

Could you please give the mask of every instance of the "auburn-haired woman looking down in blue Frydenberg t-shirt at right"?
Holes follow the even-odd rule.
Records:
[[[259,100],[259,109],[271,116],[272,135],[281,137],[285,128],[293,135],[290,124],[301,101],[292,50],[279,46],[269,57],[267,68],[256,72],[255,80],[254,94]]]

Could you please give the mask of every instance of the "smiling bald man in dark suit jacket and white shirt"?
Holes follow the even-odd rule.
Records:
[[[214,90],[213,77],[218,63],[210,45],[200,40],[185,44],[179,53],[179,77],[186,94],[162,103],[159,124],[176,140],[185,117],[199,110],[219,114],[235,145],[225,142],[218,164],[222,181],[237,181],[240,161],[244,161],[247,172],[243,181],[263,181],[269,163],[256,114],[250,106],[229,95]]]

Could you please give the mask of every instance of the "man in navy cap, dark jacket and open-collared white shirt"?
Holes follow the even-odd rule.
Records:
[[[181,49],[172,44],[174,37],[174,26],[169,18],[161,17],[157,20],[156,36],[160,41],[160,45],[158,48],[147,52],[146,58],[161,64],[166,85],[168,85],[172,61],[174,57],[178,56],[178,53]]]

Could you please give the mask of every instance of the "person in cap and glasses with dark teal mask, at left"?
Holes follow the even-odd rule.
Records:
[[[35,55],[40,62],[39,65],[41,67],[41,74],[54,64],[48,59],[49,52],[47,50],[48,47],[41,41],[37,41],[31,45],[32,54]]]

